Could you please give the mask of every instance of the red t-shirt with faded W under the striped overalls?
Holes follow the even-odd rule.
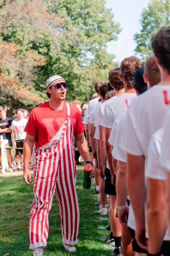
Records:
[[[36,147],[40,148],[47,144],[64,124],[67,119],[66,106],[66,102],[64,102],[62,110],[55,110],[50,108],[49,101],[47,101],[31,111],[24,131],[31,136],[35,136]],[[80,111],[72,104],[69,104],[69,106],[69,118],[74,134],[80,134],[84,131]]]

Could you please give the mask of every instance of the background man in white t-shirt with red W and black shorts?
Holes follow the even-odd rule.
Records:
[[[12,138],[16,149],[15,155],[17,156],[17,169],[14,172],[21,170],[21,159],[23,160],[23,145],[26,138],[26,132],[24,132],[25,126],[28,122],[27,118],[24,118],[24,109],[18,108],[16,110],[17,118],[12,121],[11,130]]]

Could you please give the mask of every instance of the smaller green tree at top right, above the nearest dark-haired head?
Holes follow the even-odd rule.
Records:
[[[148,8],[143,8],[140,23],[142,28],[134,35],[135,52],[145,60],[152,53],[151,35],[162,26],[170,25],[170,1],[151,0]]]

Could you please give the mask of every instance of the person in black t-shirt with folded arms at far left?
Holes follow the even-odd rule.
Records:
[[[12,119],[9,117],[6,117],[6,110],[3,107],[0,107],[0,135],[3,136],[4,140],[8,140],[8,145],[12,147],[12,138],[11,138],[11,124]],[[11,168],[12,164],[12,148],[7,148],[8,152],[8,159],[9,159],[9,172],[13,172]],[[1,159],[1,148],[0,148],[0,160],[2,165],[2,159]],[[2,169],[0,170],[2,172]]]

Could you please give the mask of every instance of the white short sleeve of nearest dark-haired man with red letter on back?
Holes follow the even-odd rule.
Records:
[[[132,123],[128,111],[123,126],[122,136],[120,140],[120,148],[126,151],[128,154],[134,156],[142,156],[143,150],[137,137],[136,129],[134,127],[134,124]]]

